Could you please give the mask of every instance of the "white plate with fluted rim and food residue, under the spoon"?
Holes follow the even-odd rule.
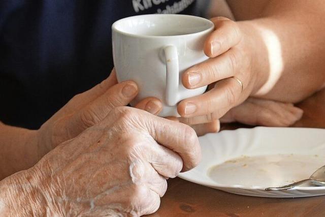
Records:
[[[310,185],[287,191],[264,190],[308,178],[325,165],[323,129],[257,127],[208,134],[199,140],[202,161],[179,174],[180,178],[256,197],[325,195],[325,187]]]

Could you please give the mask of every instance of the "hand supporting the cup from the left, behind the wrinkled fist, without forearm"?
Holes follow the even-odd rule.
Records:
[[[37,133],[38,141],[42,144],[39,146],[45,147],[45,152],[48,152],[61,142],[74,138],[103,120],[113,108],[126,106],[138,92],[138,86],[133,81],[117,83],[113,70],[107,79],[73,97],[44,123]],[[144,99],[139,104],[153,114],[159,113],[162,108],[155,98]],[[147,108],[150,104],[155,105],[155,110]]]

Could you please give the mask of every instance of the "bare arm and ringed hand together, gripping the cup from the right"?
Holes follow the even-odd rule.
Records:
[[[215,29],[204,45],[210,58],[182,75],[188,89],[210,85],[178,104],[183,118],[209,122],[248,97],[296,103],[324,86],[325,2],[229,2],[237,21],[212,18]]]

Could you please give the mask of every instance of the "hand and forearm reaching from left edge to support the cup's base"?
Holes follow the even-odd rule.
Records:
[[[113,70],[100,84],[73,97],[39,130],[17,129],[0,122],[0,143],[5,144],[0,146],[0,151],[11,156],[7,160],[0,156],[0,163],[4,165],[0,169],[0,180],[34,166],[60,143],[78,136],[102,121],[113,108],[126,106],[138,95],[138,91],[139,88],[133,81],[117,83]],[[146,98],[140,103],[157,105],[155,111],[149,111],[153,114],[161,110],[161,103],[155,98]],[[143,109],[148,110],[146,107]],[[11,150],[12,146],[15,146],[15,149]]]

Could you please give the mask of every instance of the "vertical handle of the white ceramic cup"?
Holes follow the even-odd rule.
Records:
[[[178,52],[174,45],[164,48],[166,58],[166,103],[175,106],[178,102],[179,65]]]

